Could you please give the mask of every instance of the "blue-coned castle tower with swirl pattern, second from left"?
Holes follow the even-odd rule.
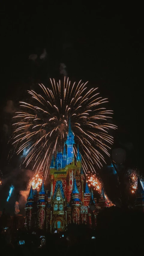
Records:
[[[44,180],[42,181],[41,189],[38,194],[37,207],[38,207],[38,228],[44,229],[45,208],[46,208]]]

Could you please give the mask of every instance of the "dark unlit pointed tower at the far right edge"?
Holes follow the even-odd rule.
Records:
[[[137,198],[135,202],[135,207],[140,211],[144,212],[144,190],[139,177],[137,178]]]

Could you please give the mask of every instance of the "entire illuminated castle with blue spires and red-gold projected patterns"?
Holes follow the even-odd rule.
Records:
[[[91,227],[92,221],[95,221],[93,216],[96,209],[109,207],[103,189],[101,199],[98,204],[96,203],[93,192],[90,192],[88,183],[85,182],[79,147],[75,165],[73,144],[74,135],[69,122],[63,154],[58,152],[56,159],[52,156],[49,175],[51,190],[46,190],[44,180],[39,193],[32,189],[32,186],[30,188],[26,203],[27,229],[40,228],[53,233],[55,230],[67,230],[71,223],[83,223]]]

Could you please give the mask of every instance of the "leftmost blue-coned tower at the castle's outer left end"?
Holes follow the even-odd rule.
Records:
[[[31,185],[31,188],[30,188],[30,191],[29,191],[29,196],[27,198],[27,203],[25,205],[25,209],[26,209],[26,224],[25,224],[25,227],[26,227],[27,230],[29,230],[31,228],[33,203],[34,203],[34,194],[33,194],[32,185]]]

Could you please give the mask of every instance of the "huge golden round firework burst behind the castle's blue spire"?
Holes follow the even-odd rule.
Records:
[[[64,84],[60,80],[56,83],[54,79],[50,82],[49,88],[39,84],[42,95],[31,90],[28,91],[32,96],[30,103],[20,102],[24,112],[16,113],[14,118],[19,122],[13,124],[16,126],[13,144],[17,154],[27,149],[23,163],[32,163],[36,172],[44,167],[46,176],[52,153],[56,149],[61,151],[67,138],[70,118],[85,173],[88,168],[92,170],[94,164],[102,166],[102,152],[109,156],[108,144],[113,144],[109,129],[116,129],[115,125],[106,122],[112,118],[109,116],[112,110],[100,107],[107,102],[106,99],[97,98],[98,88],[89,89],[88,82],[71,85],[68,78],[64,78]]]

